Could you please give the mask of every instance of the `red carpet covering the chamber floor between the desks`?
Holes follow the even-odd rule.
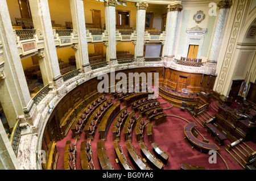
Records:
[[[158,99],[161,107],[163,108],[169,108],[172,105],[166,103],[163,99]],[[116,100],[113,100],[113,102],[116,102]],[[212,104],[214,101],[212,100]],[[121,108],[123,108],[123,103],[121,105]],[[130,112],[131,108],[128,107],[127,110]],[[215,110],[211,106],[209,106],[210,115],[214,116],[216,113]],[[218,145],[217,141],[214,141],[214,137],[210,136],[209,133],[205,132],[205,128],[201,127],[200,124],[197,123],[197,121],[187,112],[187,111],[180,111],[179,108],[172,107],[170,109],[164,110],[164,113],[167,115],[175,115],[179,117],[183,117],[189,122],[195,122],[197,127],[196,129],[210,141],[210,143],[214,143]],[[138,112],[135,113],[135,115],[138,116]],[[115,120],[115,119],[114,119]],[[109,127],[108,134],[106,136],[105,141],[105,147],[106,151],[108,153],[108,157],[110,159],[110,162],[112,163],[112,166],[115,170],[120,170],[121,167],[115,162],[115,151],[114,151],[114,145],[113,145],[113,133],[112,128],[114,124],[114,120],[112,124]],[[144,117],[144,121],[146,121],[146,118]],[[153,123],[153,135],[152,135],[152,142],[156,142],[156,144],[159,145],[159,147],[164,150],[167,154],[170,155],[168,165],[164,167],[164,170],[179,170],[180,165],[182,162],[188,163],[190,165],[195,166],[204,166],[205,169],[212,169],[212,170],[226,170],[227,167],[225,165],[228,165],[229,170],[243,170],[243,168],[228,154],[228,152],[225,150],[226,145],[230,144],[228,140],[224,142],[224,145],[220,146],[220,150],[218,150],[218,153],[221,155],[222,158],[224,158],[225,162],[221,159],[219,155],[217,155],[217,163],[209,163],[208,159],[211,155],[208,155],[206,153],[200,153],[200,150],[192,149],[189,142],[184,139],[184,126],[187,124],[187,121],[184,121],[182,119],[179,119],[177,117],[168,116],[167,122],[159,125],[158,127],[155,127]],[[152,146],[151,143],[148,142],[148,137],[146,133],[146,128],[144,128],[144,144],[147,146],[149,150],[152,152]],[[123,129],[121,130],[121,133],[123,133]],[[141,149],[139,148],[139,143],[137,141],[136,135],[135,135],[135,127],[133,129],[133,136],[132,136],[132,142],[131,144],[134,145],[135,149],[137,150],[137,153],[142,157]],[[199,139],[201,139],[199,134]],[[63,166],[63,157],[64,157],[64,147],[65,142],[67,140],[72,140],[72,142],[75,143],[75,139],[72,138],[72,132],[69,131],[68,135],[61,141],[58,141],[57,151],[59,152],[59,159],[57,162],[57,170],[62,170],[64,168]],[[76,143],[76,169],[80,170],[80,144],[82,141],[86,140],[85,133],[82,132],[80,135],[80,140],[77,140]],[[202,138],[203,140],[203,138]],[[88,140],[89,141],[89,140]],[[96,130],[96,134],[94,135],[94,140],[91,142],[92,144],[92,159],[94,163],[94,167],[96,170],[100,170],[100,163],[98,162],[97,157],[97,142],[100,141],[100,134],[98,134]],[[133,163],[131,162],[131,159],[129,158],[128,151],[126,149],[125,145],[125,137],[123,134],[121,134],[121,140],[119,142],[119,145],[122,146],[123,152],[125,154],[125,157],[127,158],[130,165],[135,169]],[[251,141],[246,142],[247,145],[249,145],[252,149],[256,150],[256,144],[254,144]],[[154,153],[153,153],[154,154]]]

